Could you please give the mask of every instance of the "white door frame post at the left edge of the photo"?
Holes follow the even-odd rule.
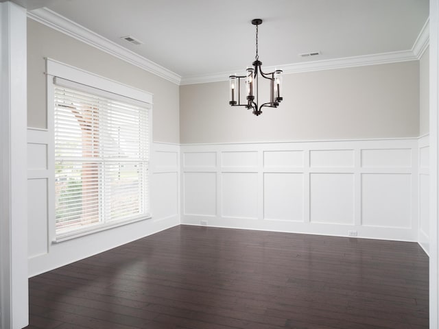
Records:
[[[29,319],[26,10],[0,3],[0,328]]]

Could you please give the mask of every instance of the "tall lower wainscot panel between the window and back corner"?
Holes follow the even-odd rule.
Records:
[[[151,206],[154,219],[178,215],[178,173],[152,175]]]

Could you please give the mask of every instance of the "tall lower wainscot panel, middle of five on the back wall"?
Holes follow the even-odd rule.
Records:
[[[303,221],[303,174],[263,175],[264,219]]]

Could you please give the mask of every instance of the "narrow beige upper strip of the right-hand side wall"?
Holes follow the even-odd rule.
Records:
[[[419,61],[419,134],[429,133],[429,47]]]

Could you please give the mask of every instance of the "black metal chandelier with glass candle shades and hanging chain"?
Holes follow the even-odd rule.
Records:
[[[282,70],[275,70],[270,73],[263,73],[258,55],[258,26],[262,24],[262,19],[253,19],[252,25],[256,25],[256,56],[254,57],[253,67],[246,70],[246,75],[230,75],[230,101],[231,106],[245,106],[248,110],[252,109],[253,114],[258,116],[262,113],[262,108],[277,108],[282,101],[281,97],[281,73]],[[259,104],[259,73],[261,77],[270,81],[270,101]],[[241,80],[246,84],[246,101],[241,103]]]

